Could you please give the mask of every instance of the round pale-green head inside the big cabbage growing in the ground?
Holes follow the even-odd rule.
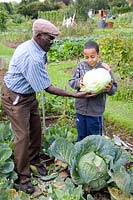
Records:
[[[79,159],[77,170],[83,184],[90,185],[91,189],[100,190],[107,185],[106,178],[109,178],[107,164],[94,152],[87,153]]]

